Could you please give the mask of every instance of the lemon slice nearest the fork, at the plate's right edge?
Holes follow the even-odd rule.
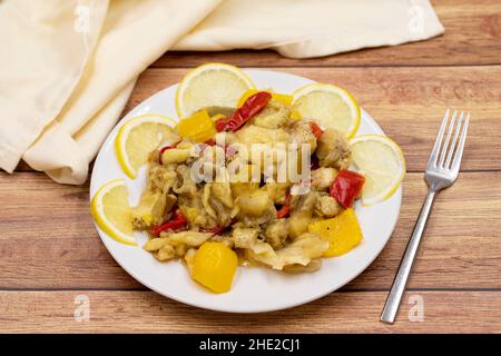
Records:
[[[382,135],[363,135],[350,141],[352,162],[365,177],[362,205],[390,198],[405,176],[405,158],[393,140]]]

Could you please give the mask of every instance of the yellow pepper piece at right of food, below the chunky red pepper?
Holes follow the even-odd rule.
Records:
[[[353,209],[346,209],[332,219],[308,225],[308,231],[317,234],[330,243],[324,257],[337,257],[355,248],[363,239],[362,230]]]

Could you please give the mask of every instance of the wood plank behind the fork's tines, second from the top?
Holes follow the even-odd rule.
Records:
[[[425,168],[445,109],[472,112],[462,170],[501,169],[501,66],[441,68],[276,68],[351,91],[401,145],[410,171]],[[126,112],[158,90],[178,82],[186,69],[149,69]]]

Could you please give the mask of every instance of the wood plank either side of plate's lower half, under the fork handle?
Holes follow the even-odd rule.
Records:
[[[345,289],[389,289],[425,195],[404,180],[400,221],[380,257]],[[42,174],[0,174],[0,289],[141,286],[109,256],[89,214],[87,187]],[[439,195],[411,288],[501,288],[501,172],[464,172]]]

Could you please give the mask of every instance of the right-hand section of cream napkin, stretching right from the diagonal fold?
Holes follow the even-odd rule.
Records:
[[[443,31],[428,0],[233,0],[173,49],[274,49],[285,57],[311,58],[424,40]]]

